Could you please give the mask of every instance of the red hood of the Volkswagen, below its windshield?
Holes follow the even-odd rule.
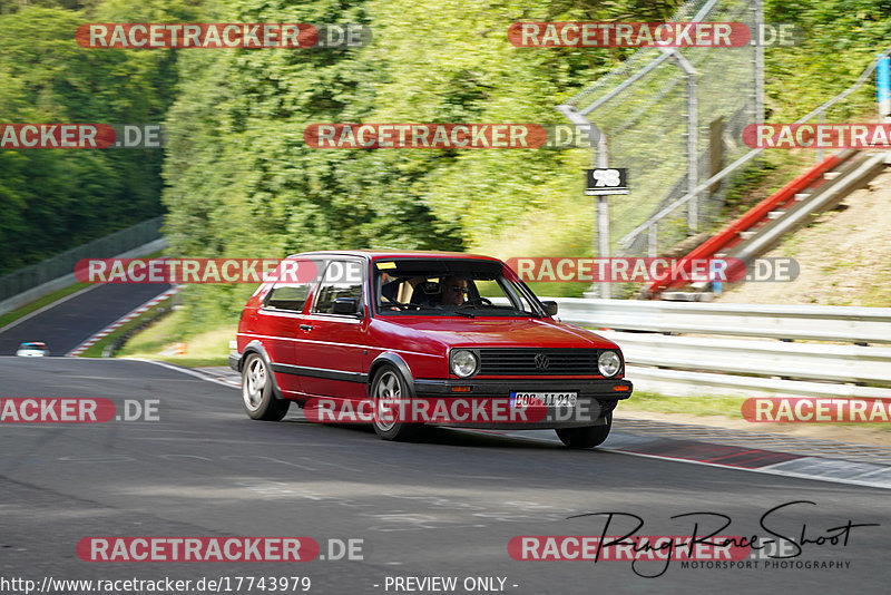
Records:
[[[617,348],[591,331],[554,320],[412,318],[389,321],[448,347]]]

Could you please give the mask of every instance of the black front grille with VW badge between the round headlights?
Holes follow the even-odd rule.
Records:
[[[590,375],[599,374],[599,349],[480,349],[479,375]]]

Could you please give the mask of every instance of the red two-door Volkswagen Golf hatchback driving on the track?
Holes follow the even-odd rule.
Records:
[[[503,262],[433,252],[288,256],[251,296],[229,365],[253,419],[370,422],[388,440],[425,425],[555,429],[606,440],[631,393],[619,348],[555,320]]]

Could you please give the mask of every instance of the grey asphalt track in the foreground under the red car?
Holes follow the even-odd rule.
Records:
[[[282,422],[253,421],[237,389],[149,362],[0,358],[0,387],[3,402],[107,398],[118,413],[125,399],[159,401],[158,421],[0,425],[0,568],[6,578],[38,586],[45,577],[194,584],[307,576],[310,593],[404,593],[393,577],[451,576],[456,593],[889,592],[887,489],[570,451],[483,432],[434,430],[420,443],[385,442],[371,430],[310,423],[293,407]],[[615,431],[621,431],[620,413]],[[672,517],[719,513],[731,519],[721,535],[770,537],[763,515],[795,500],[813,504],[776,511],[765,524],[783,536],[804,530],[811,540],[838,535],[833,529],[849,520],[880,526],[853,527],[846,545],[804,544],[796,558],[773,560],[785,568],[754,558],[757,567],[716,570],[681,562],[666,568],[664,560],[523,562],[508,554],[515,536],[599,536],[605,517],[567,518],[585,513],[636,515],[645,524],[637,535],[691,535],[695,520],[703,534],[721,526],[717,517]],[[616,517],[607,534],[633,527],[630,517]],[[362,559],[84,562],[76,546],[88,536],[301,536],[315,539],[322,556],[330,539],[361,539]],[[805,567],[820,563],[842,567]],[[466,591],[468,577],[505,583]],[[229,585],[229,593],[261,592]]]

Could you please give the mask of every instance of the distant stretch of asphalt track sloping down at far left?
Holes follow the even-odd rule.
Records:
[[[170,289],[157,283],[108,283],[60,300],[51,308],[0,330],[0,355],[14,355],[26,341],[47,343],[50,355],[65,355],[80,343],[156,295]]]

